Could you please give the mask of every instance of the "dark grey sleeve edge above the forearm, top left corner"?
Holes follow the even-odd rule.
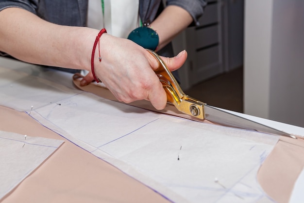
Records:
[[[0,11],[9,7],[23,8],[36,14],[38,0],[0,0]]]

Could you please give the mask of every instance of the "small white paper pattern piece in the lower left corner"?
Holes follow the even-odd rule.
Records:
[[[0,200],[64,141],[0,131]]]

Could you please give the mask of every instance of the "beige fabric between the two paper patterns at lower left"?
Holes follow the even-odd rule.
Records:
[[[1,203],[168,203],[151,188],[43,127],[24,112],[0,106],[0,130],[65,140]]]

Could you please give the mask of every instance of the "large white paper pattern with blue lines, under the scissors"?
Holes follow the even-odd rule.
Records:
[[[256,173],[278,136],[147,111],[14,74],[0,84],[1,105],[27,111],[172,202],[272,202]],[[15,85],[17,92],[7,90]],[[36,108],[29,109],[33,102]]]

